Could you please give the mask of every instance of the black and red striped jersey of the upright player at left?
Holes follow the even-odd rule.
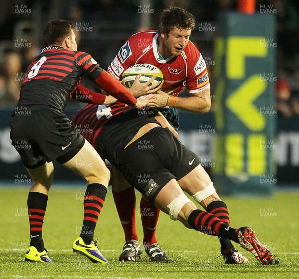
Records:
[[[27,68],[17,106],[62,112],[82,76],[95,81],[102,71],[85,52],[46,47]]]

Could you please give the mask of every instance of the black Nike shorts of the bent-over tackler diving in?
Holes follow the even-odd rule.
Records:
[[[153,128],[119,155],[119,170],[152,202],[171,179],[183,178],[200,164],[194,152],[162,127]]]

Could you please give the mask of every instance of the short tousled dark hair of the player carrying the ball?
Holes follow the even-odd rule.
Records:
[[[173,28],[179,29],[195,29],[195,18],[186,9],[170,6],[161,12],[159,33],[168,35]]]

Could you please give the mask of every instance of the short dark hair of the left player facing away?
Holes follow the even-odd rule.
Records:
[[[61,44],[66,37],[71,37],[74,28],[73,22],[65,19],[55,19],[48,22],[43,32],[45,46]]]

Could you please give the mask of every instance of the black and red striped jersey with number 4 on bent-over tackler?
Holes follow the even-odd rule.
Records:
[[[145,124],[159,124],[154,118],[156,113],[149,107],[130,109],[122,102],[110,106],[89,104],[75,114],[72,124],[102,158],[117,166],[111,154],[124,148]]]

